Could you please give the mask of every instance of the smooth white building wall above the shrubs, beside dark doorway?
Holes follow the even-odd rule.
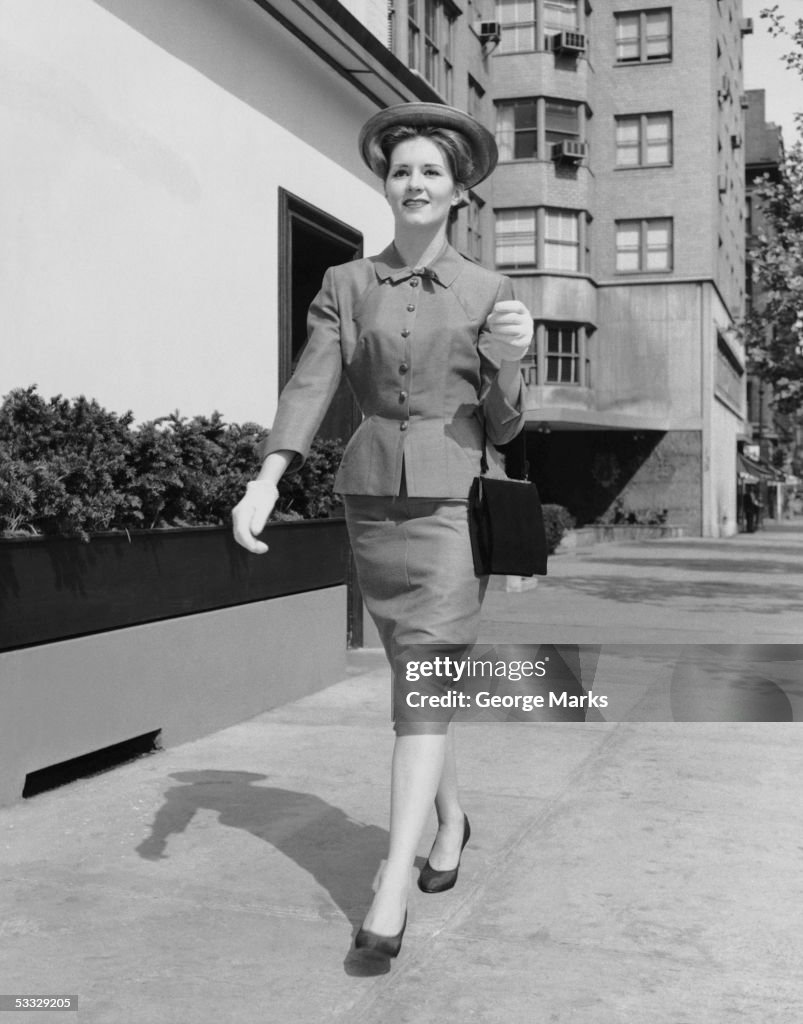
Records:
[[[4,0],[0,95],[0,394],[269,424],[278,189],[381,249],[375,108],[252,0]]]

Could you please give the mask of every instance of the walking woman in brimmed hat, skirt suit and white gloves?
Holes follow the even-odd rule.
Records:
[[[511,440],[523,425],[519,360],[533,324],[507,279],[447,243],[452,209],[496,165],[490,132],[453,108],[403,103],[371,118],[360,146],[384,181],[393,244],[327,271],[264,464],[233,518],[238,542],[264,552],[255,537],[277,484],[303,462],[345,372],[364,420],[335,490],[344,498],[366,605],[400,679],[411,646],[457,656],[476,639],[488,581],[473,571],[467,496],[485,438],[498,473],[491,445]],[[432,802],[438,829],[419,879],[423,891],[452,888],[469,837],[449,723],[410,714],[396,699],[389,852],[355,938],[357,949],[384,956],[395,956],[402,944],[411,871]]]

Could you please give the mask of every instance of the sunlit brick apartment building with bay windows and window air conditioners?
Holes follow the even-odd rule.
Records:
[[[536,317],[529,455],[581,522],[736,529],[739,0],[500,0],[496,263]]]

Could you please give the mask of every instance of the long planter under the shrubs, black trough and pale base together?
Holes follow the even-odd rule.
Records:
[[[0,542],[0,806],[26,776],[186,742],[345,675],[343,520]]]

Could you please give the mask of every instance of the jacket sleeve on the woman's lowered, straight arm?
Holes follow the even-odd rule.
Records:
[[[288,473],[303,466],[342,371],[340,313],[334,270],[330,267],[309,307],[306,345],[279,398],[270,433],[259,446],[262,459],[271,452],[286,450],[295,453]]]

